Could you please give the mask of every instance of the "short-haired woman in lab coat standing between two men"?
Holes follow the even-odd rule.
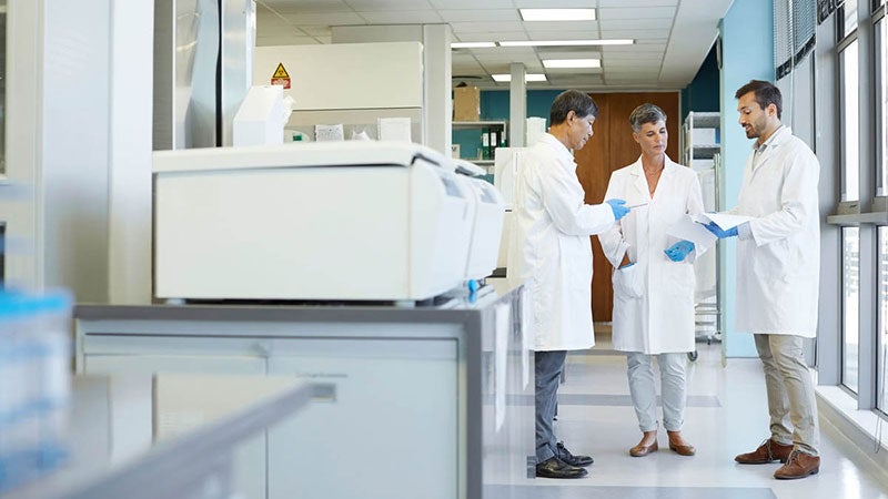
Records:
[[[695,449],[682,438],[686,354],[694,349],[694,245],[666,234],[686,214],[703,212],[696,173],[666,155],[666,114],[642,104],[629,116],[642,149],[635,163],[610,175],[605,198],[642,205],[599,234],[614,265],[614,348],[627,353],[629,393],[642,440],[634,457],[657,450],[657,397],[652,357],[658,358],[663,425],[669,448],[683,456]]]

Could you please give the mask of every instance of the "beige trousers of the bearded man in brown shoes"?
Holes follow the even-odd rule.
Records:
[[[770,435],[813,456],[820,446],[814,381],[805,364],[801,336],[753,335],[765,370]]]

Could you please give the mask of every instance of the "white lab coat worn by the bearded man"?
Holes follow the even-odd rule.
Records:
[[[820,163],[788,126],[753,169],[746,162],[737,206],[754,216],[737,242],[737,329],[813,338],[820,283]],[[743,235],[743,234],[741,234]]]

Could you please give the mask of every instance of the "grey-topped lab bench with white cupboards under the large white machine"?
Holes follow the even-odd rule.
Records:
[[[255,449],[264,481],[248,499],[482,498],[534,472],[527,297],[493,287],[437,306],[81,305],[75,370],[329,386],[268,430]]]

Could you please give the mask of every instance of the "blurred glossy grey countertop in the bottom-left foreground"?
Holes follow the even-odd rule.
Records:
[[[75,376],[64,457],[21,473],[0,498],[241,497],[264,479],[264,462],[250,460],[256,442],[314,396],[315,386],[286,377]]]

